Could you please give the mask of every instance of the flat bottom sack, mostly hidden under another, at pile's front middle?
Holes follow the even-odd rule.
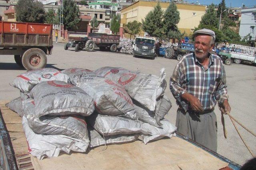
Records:
[[[90,147],[98,147],[100,145],[112,145],[112,144],[122,144],[130,143],[138,139],[138,135],[113,135],[103,137],[92,127],[88,127],[90,136]]]

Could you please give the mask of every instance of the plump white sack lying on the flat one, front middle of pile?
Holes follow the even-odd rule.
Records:
[[[94,113],[86,117],[88,124],[91,125],[98,133],[104,136],[111,135],[130,135],[135,133],[150,133],[142,130],[142,121],[127,119],[120,116],[100,115]]]

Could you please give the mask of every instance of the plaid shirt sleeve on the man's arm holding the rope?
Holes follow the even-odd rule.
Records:
[[[220,86],[218,86],[218,89],[216,90],[215,98],[218,101],[218,104],[222,104],[225,99],[228,100],[226,72],[224,66],[221,68],[221,82]]]

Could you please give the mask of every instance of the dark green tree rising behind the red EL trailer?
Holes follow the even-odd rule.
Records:
[[[16,7],[16,19],[20,22],[43,23],[45,11],[42,2],[19,0]]]

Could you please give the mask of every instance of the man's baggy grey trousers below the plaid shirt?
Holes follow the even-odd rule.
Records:
[[[217,119],[214,111],[200,115],[178,108],[176,127],[182,135],[217,151]]]

